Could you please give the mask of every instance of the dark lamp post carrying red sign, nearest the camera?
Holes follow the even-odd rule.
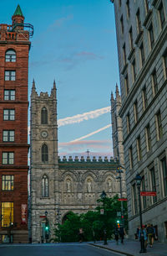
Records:
[[[140,197],[140,186],[141,186],[141,180],[142,177],[137,173],[136,177],[136,185],[138,188],[138,195],[139,195],[139,220],[140,220],[140,244],[141,244],[141,250],[139,253],[146,253],[146,249],[144,248],[144,232],[143,232],[143,222],[142,222],[142,212],[141,212],[141,197]]]

